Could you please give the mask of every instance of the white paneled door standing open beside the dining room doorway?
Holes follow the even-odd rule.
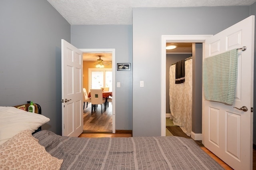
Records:
[[[83,55],[61,40],[62,136],[77,137],[83,132]]]

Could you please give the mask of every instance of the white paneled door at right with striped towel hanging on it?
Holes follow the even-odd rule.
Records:
[[[232,106],[203,98],[203,144],[236,170],[252,170],[254,16],[208,38],[205,55],[210,57],[234,48],[238,51],[238,80]],[[228,67],[228,66],[227,66]],[[237,108],[246,106],[248,111]]]

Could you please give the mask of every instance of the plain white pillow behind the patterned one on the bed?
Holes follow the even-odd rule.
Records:
[[[30,113],[16,107],[0,107],[0,144],[22,130],[30,130],[33,133],[50,119],[36,113]]]

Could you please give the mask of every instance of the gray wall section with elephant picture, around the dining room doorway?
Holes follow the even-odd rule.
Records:
[[[116,63],[132,63],[131,25],[72,25],[71,43],[77,48],[114,48]],[[114,71],[121,83],[115,96],[116,130],[132,130],[132,69]]]

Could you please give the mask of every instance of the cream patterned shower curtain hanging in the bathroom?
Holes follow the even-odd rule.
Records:
[[[192,131],[192,59],[185,60],[185,82],[175,84],[175,64],[170,66],[169,96],[173,124],[188,136]]]

